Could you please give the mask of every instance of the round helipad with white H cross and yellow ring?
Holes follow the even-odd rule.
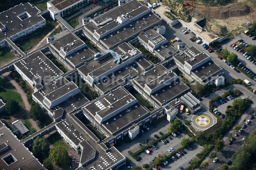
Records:
[[[205,131],[217,123],[217,118],[212,114],[200,112],[193,115],[191,121],[196,131]]]

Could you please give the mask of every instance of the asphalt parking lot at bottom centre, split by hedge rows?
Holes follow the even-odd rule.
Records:
[[[166,138],[168,140],[168,143],[163,144],[161,141],[156,143],[155,146],[157,147],[157,150],[154,150],[151,147],[152,152],[150,154],[147,154],[146,152],[142,152],[141,154],[139,154],[139,156],[142,159],[139,161],[135,161],[128,154],[128,150],[132,151],[133,153],[138,151],[140,148],[139,144],[145,144],[144,143],[145,140],[147,139],[155,140],[154,135],[158,135],[160,137],[161,135],[159,135],[158,133],[159,131],[166,134],[168,132],[168,127],[171,124],[165,118],[166,117],[162,118],[163,119],[162,122],[157,124],[157,127],[154,127],[153,125],[147,125],[150,128],[150,130],[147,132],[144,132],[140,138],[133,140],[132,143],[122,144],[120,147],[117,148],[124,156],[128,157],[131,160],[131,166],[135,166],[135,165],[142,166],[143,164],[146,164],[152,161],[154,157],[158,156],[158,154],[168,155],[169,152],[167,151],[167,149],[170,149],[170,147],[172,147],[173,149],[177,150],[178,148],[181,148],[180,141],[183,138],[189,138],[189,136],[187,136],[185,132],[182,132],[181,134],[177,134],[178,135],[177,137],[170,135],[172,137],[172,140],[170,140],[169,138]],[[161,167],[161,169],[170,169],[170,168],[179,169],[179,166],[182,166],[184,168],[188,167],[189,164],[187,162],[190,161],[193,157],[195,157],[195,154],[200,152],[200,149],[202,148],[200,145],[197,145],[197,144],[192,144],[191,147],[193,148],[193,150],[190,151],[188,149],[185,149],[187,154],[183,155],[177,161],[171,164],[168,164],[163,168]],[[123,166],[119,169],[127,169],[127,167]]]

